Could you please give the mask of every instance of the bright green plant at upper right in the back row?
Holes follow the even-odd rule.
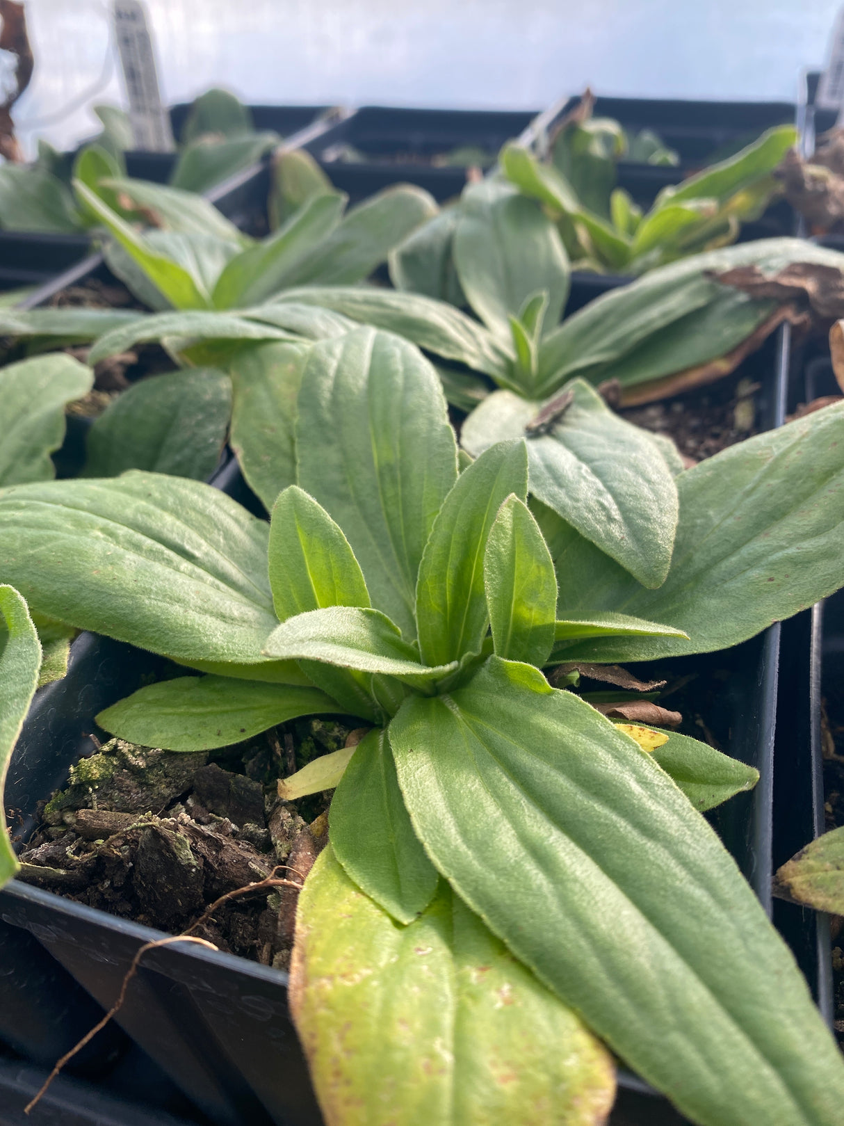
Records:
[[[767,129],[734,157],[663,188],[645,215],[623,188],[613,188],[616,137],[604,122],[572,124],[549,160],[511,142],[500,161],[504,176],[556,222],[575,269],[638,275],[734,242],[740,224],[781,194],[773,172],[797,131]]]

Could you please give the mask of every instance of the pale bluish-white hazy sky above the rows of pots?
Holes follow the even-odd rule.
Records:
[[[124,104],[106,0],[27,0],[32,149]],[[603,95],[787,100],[819,69],[838,0],[146,0],[165,102],[225,86],[252,102],[541,109]]]

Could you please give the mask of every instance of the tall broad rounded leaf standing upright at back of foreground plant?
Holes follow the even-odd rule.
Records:
[[[437,373],[386,332],[321,341],[303,377],[296,443],[299,485],[343,529],[372,606],[414,637],[422,551],[457,479]]]

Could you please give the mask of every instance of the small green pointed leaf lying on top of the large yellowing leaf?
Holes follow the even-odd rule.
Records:
[[[386,731],[370,731],[358,744],[329,821],[331,847],[345,874],[394,919],[413,922],[440,877],[413,832]]]

